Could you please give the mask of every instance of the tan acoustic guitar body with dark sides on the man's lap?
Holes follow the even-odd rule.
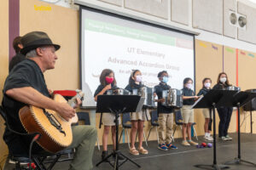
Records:
[[[67,103],[60,94],[55,94],[54,100]],[[35,106],[24,106],[19,111],[20,122],[27,133],[40,133],[41,138],[37,143],[51,153],[63,150],[73,141],[71,124],[78,122],[78,116],[74,116],[68,122],[57,112],[41,109]]]

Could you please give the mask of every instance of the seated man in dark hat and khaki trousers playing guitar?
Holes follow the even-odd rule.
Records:
[[[24,48],[21,53],[26,59],[15,65],[9,73],[3,88],[3,109],[9,120],[9,126],[20,133],[26,133],[19,118],[19,111],[25,105],[56,111],[65,120],[75,116],[75,110],[67,103],[58,103],[51,99],[44,80],[44,72],[55,68],[58,59],[55,51],[60,48],[51,42],[48,35],[42,31],[27,33],[21,38]],[[77,99],[77,106],[81,100]],[[76,148],[70,169],[92,169],[92,155],[96,144],[96,128],[90,126],[73,126],[73,142],[68,148]],[[3,139],[8,144],[13,156],[28,156],[31,139],[5,130]],[[32,153],[43,149],[34,144]]]

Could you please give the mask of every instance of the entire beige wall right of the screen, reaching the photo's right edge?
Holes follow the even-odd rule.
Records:
[[[237,52],[236,52],[237,51]],[[256,81],[253,78],[255,73],[255,58],[253,52],[241,50],[238,48],[230,48],[212,42],[195,41],[195,75],[196,75],[196,91],[201,88],[201,80],[203,77],[212,78],[212,84],[216,83],[218,73],[224,71],[227,73],[230,83],[239,86],[241,90],[255,88]],[[250,133],[250,117],[249,112],[241,109],[241,132]],[[217,122],[218,122],[218,116]],[[253,111],[253,122],[256,121],[255,112]],[[195,122],[204,122],[200,110],[195,110]],[[197,131],[203,133],[202,124],[197,124]],[[237,130],[237,111],[233,111],[231,117],[229,132]],[[217,126],[218,132],[218,126]],[[253,126],[253,133],[256,127]]]

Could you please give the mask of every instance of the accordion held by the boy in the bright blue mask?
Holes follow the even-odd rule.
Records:
[[[163,90],[162,97],[165,99],[163,105],[181,108],[183,107],[182,90],[171,88],[169,90]]]

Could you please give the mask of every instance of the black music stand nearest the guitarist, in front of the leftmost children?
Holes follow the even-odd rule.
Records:
[[[137,167],[141,167],[135,161],[132,161],[129,157],[124,156],[119,150],[119,114],[125,112],[135,112],[137,111],[137,106],[141,97],[137,95],[99,95],[97,98],[96,112],[110,112],[115,115],[115,127],[116,127],[116,147],[113,150],[113,153],[105,157],[102,161],[99,161],[96,164],[98,167],[102,162],[108,161],[110,156],[114,156],[114,165],[108,161],[108,163],[113,167],[113,169],[119,169],[125,161],[131,161]],[[142,106],[141,106],[142,107]],[[123,161],[119,165],[119,156],[125,157],[125,161]]]

